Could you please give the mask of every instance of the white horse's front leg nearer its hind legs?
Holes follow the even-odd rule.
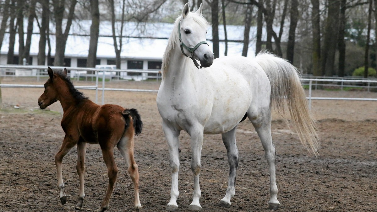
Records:
[[[201,170],[200,157],[203,146],[203,127],[196,127],[190,130],[191,137],[191,171],[194,174],[194,193],[189,210],[201,210],[199,199],[202,195],[199,185],[199,174]]]

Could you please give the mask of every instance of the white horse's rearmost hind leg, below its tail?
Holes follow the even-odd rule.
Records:
[[[275,146],[272,143],[271,138],[271,110],[263,111],[259,113],[259,116],[249,117],[251,123],[258,133],[261,139],[262,146],[265,152],[265,158],[267,160],[270,169],[270,201],[269,209],[276,210],[279,208],[280,203],[277,201],[277,186],[275,175]]]

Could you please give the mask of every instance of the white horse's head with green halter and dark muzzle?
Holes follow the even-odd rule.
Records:
[[[202,67],[209,67],[213,63],[213,52],[205,41],[208,26],[202,16],[202,4],[196,12],[190,12],[189,3],[185,4],[178,24],[179,43],[182,53],[199,60]],[[198,67],[195,60],[194,63]]]

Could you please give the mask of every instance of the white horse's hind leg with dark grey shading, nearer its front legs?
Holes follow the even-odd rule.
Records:
[[[227,148],[228,153],[228,162],[229,162],[229,180],[228,180],[228,189],[225,197],[220,200],[219,205],[223,207],[230,207],[230,199],[234,197],[235,191],[234,187],[236,186],[236,172],[238,167],[238,149],[236,146],[236,128],[223,133],[222,142],[224,142],[225,148]]]

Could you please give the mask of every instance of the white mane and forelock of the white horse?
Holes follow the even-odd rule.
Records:
[[[192,19],[196,23],[198,23],[200,26],[205,27],[207,29],[211,24],[208,23],[207,20],[201,15],[196,12],[190,12],[187,14],[185,19]],[[164,52],[164,56],[162,56],[162,66],[161,66],[161,71],[162,71],[162,79],[164,79],[165,73],[167,72],[167,69],[169,68],[169,61],[170,61],[170,53],[174,49],[174,45],[177,43],[179,44],[179,35],[178,35],[178,24],[182,20],[182,16],[178,16],[176,20],[174,21],[174,27],[173,31],[170,34],[166,50]]]

